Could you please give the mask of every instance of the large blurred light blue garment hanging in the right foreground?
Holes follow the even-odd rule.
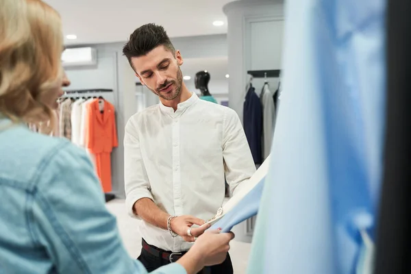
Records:
[[[385,5],[286,1],[282,105],[248,273],[356,273],[382,176]]]

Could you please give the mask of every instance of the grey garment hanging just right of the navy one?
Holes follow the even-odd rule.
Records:
[[[273,142],[275,105],[273,95],[268,84],[264,84],[261,93],[262,103],[262,158],[265,160],[271,153],[271,143]]]

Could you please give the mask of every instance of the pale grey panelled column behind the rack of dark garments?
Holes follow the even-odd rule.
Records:
[[[245,87],[249,81],[247,71],[281,69],[284,1],[242,0],[227,3],[227,45],[229,73],[229,108],[234,109],[242,121]],[[253,79],[260,92],[264,79]],[[277,79],[269,79],[273,89]],[[251,242],[254,219],[233,228],[236,240]]]

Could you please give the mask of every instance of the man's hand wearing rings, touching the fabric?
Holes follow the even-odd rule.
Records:
[[[195,216],[183,215],[171,219],[170,225],[171,230],[173,230],[173,232],[175,232],[179,236],[182,236],[182,238],[186,242],[194,242],[195,237],[198,237],[201,234],[203,234],[206,231],[206,229],[210,227],[210,224],[204,225],[203,227],[192,228],[192,236],[188,236],[188,228],[192,227],[192,225],[203,225],[204,223],[206,223],[204,220],[195,218]]]

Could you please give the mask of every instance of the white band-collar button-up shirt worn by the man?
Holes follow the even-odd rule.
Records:
[[[126,206],[136,218],[134,203],[147,197],[169,214],[208,220],[223,206],[225,178],[233,192],[256,172],[236,112],[195,93],[175,112],[160,103],[134,114],[125,126],[124,153]],[[145,221],[140,233],[160,249],[192,246]]]

